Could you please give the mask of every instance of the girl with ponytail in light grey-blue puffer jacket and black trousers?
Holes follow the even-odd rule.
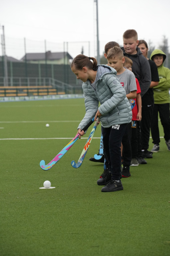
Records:
[[[107,157],[110,180],[101,189],[102,192],[122,190],[121,177],[121,140],[126,126],[132,120],[131,106],[126,92],[116,78],[115,69],[98,65],[95,58],[78,55],[74,58],[71,69],[84,83],[85,117],[78,126],[81,129],[95,116],[103,127],[103,146]],[[98,107],[98,103],[100,106]]]

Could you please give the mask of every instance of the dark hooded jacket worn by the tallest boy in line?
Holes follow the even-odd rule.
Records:
[[[132,72],[139,81],[141,97],[147,92],[151,83],[151,72],[148,60],[142,55],[139,47],[136,47],[136,54],[127,54],[123,47],[123,55],[133,61]]]

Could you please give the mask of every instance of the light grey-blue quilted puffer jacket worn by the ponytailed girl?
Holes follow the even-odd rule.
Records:
[[[97,110],[101,113],[100,122],[104,128],[114,124],[130,123],[132,110],[125,90],[116,78],[116,70],[98,65],[95,90],[87,80],[82,88],[85,95],[85,117],[78,126],[82,129],[95,116]],[[98,107],[98,102],[100,106]]]

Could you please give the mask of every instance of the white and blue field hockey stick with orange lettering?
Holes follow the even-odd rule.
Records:
[[[92,137],[93,137],[94,132],[95,132],[95,130],[96,130],[96,127],[97,127],[97,125],[98,125],[97,122],[98,122],[98,120],[95,122],[95,124],[94,124],[94,126],[93,126],[93,129],[92,129],[92,131],[91,131],[91,133],[90,133],[90,135],[89,135],[89,137],[88,137],[88,139],[87,139],[87,141],[86,141],[86,143],[85,143],[84,149],[83,149],[83,151],[82,151],[82,154],[80,155],[80,158],[79,158],[78,162],[77,162],[77,163],[76,163],[75,161],[72,161],[72,162],[71,162],[71,164],[72,164],[72,166],[73,166],[74,168],[79,168],[79,167],[82,165],[83,160],[84,160],[84,158],[85,158],[85,154],[87,153],[87,150],[88,150],[88,148],[89,148],[89,146],[90,146]]]

